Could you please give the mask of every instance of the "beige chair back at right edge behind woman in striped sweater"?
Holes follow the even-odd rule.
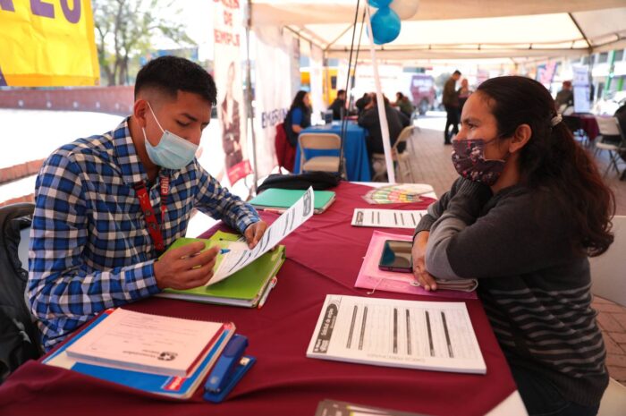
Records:
[[[614,240],[609,250],[589,259],[591,292],[626,306],[626,216],[613,216]]]

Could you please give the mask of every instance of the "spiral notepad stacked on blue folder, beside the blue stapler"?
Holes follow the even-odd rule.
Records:
[[[149,393],[187,398],[234,331],[232,322],[107,310],[43,362]]]

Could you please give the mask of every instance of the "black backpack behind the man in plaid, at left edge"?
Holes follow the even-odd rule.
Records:
[[[29,228],[35,205],[0,208],[0,384],[21,364],[41,355],[38,328],[24,299],[29,278],[18,254],[21,231]]]

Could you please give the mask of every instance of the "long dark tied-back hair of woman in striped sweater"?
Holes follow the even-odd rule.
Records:
[[[528,124],[532,136],[520,150],[521,182],[553,195],[574,227],[573,244],[589,256],[613,242],[613,192],[602,182],[596,163],[574,140],[565,123],[552,125],[554,99],[539,82],[520,76],[492,78],[480,84],[501,138]]]

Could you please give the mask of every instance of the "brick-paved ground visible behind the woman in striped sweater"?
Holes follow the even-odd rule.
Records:
[[[437,195],[447,191],[457,177],[450,161],[450,146],[444,146],[444,124],[445,118],[438,115],[420,118],[420,131],[411,140],[413,146],[408,147],[414,153],[411,167],[415,182],[430,183]],[[596,161],[604,173],[607,155],[598,155]],[[626,181],[619,181],[614,171],[606,175],[605,181],[615,193],[616,214],[626,215]],[[597,320],[605,337],[609,373],[626,385],[626,308],[598,297],[593,307],[598,311]]]

